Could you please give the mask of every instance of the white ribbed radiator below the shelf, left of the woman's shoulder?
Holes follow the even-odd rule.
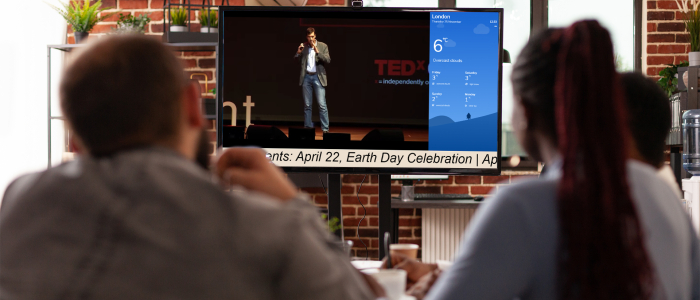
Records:
[[[475,208],[424,208],[422,217],[422,256],[426,263],[453,261],[458,253],[464,230],[476,212]]]

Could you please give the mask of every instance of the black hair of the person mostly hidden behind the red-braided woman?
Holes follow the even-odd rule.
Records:
[[[625,73],[621,80],[627,97],[629,127],[637,151],[647,163],[661,167],[666,137],[671,130],[668,97],[656,82],[642,74]]]

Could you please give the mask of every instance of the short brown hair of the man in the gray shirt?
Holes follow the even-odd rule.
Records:
[[[109,36],[85,48],[67,67],[61,108],[90,154],[111,155],[172,142],[185,86],[180,61],[162,42]]]

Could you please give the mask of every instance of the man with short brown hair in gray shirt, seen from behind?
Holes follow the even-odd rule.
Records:
[[[82,155],[8,187],[0,298],[374,298],[261,150],[222,155],[234,194],[195,163],[198,87],[171,51],[110,36],[67,67],[61,108]]]

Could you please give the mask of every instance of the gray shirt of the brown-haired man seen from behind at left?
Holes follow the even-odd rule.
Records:
[[[306,198],[232,195],[165,149],[80,157],[7,189],[0,298],[372,298]]]

